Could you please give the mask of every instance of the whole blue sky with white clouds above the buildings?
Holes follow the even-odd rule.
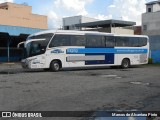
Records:
[[[49,29],[62,27],[62,18],[83,15],[100,20],[135,21],[141,25],[145,3],[154,0],[0,0],[32,6],[32,13],[48,16]]]

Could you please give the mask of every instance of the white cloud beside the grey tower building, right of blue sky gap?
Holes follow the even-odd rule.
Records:
[[[146,0],[114,0],[108,6],[108,14],[112,14],[114,19],[135,21],[141,24],[141,14],[145,12]]]

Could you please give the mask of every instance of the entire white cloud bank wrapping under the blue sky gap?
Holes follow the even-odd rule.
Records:
[[[2,1],[2,0],[1,0]],[[101,11],[89,13],[86,6],[94,0],[51,0],[50,5],[45,6],[49,28],[62,26],[62,18],[76,15],[94,17],[100,20],[119,19],[135,21],[141,24],[141,14],[145,12],[145,3],[151,0],[113,0],[112,4],[106,6],[106,14]]]

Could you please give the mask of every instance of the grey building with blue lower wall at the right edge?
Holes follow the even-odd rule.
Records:
[[[142,34],[150,38],[151,57],[160,62],[160,0],[146,3],[142,14]]]

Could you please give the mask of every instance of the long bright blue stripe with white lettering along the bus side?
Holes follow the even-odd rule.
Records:
[[[140,54],[147,53],[147,49],[134,48],[68,48],[67,54],[100,54],[100,53],[115,53],[115,54]]]

